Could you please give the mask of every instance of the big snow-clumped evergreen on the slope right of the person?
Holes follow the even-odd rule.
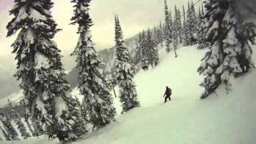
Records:
[[[201,98],[208,97],[222,82],[226,85],[226,90],[230,90],[230,74],[238,76],[254,67],[249,39],[243,34],[243,22],[238,22],[233,2],[206,1],[208,40],[211,47],[198,68],[198,72],[206,76],[200,84],[205,88]]]

